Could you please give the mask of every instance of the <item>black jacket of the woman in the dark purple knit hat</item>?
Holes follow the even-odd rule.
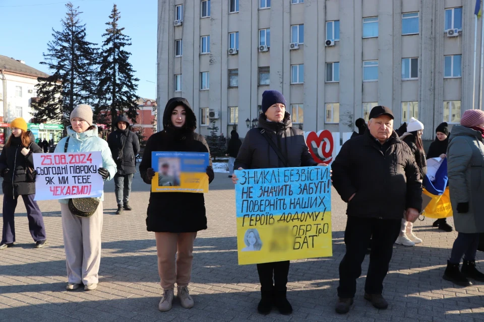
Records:
[[[264,134],[276,144],[286,157],[284,165]],[[304,140],[304,132],[292,127],[291,116],[285,113],[282,122],[270,122],[264,114],[259,117],[259,127],[249,130],[235,159],[234,169],[267,169],[285,167],[311,167],[318,165],[311,156]]]

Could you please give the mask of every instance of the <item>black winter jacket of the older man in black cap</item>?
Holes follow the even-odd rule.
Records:
[[[346,141],[332,166],[333,186],[346,214],[400,219],[408,208],[422,207],[422,185],[410,148],[393,132],[383,145],[367,131]]]

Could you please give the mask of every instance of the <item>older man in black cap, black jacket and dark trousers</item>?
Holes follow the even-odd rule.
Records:
[[[372,240],[365,299],[388,307],[383,280],[388,273],[401,219],[418,218],[422,186],[410,148],[393,130],[393,113],[376,106],[368,130],[346,141],[332,164],[333,186],[348,203],[344,232],[346,254],[339,265],[336,312],[347,313],[356,293],[356,279]],[[373,236],[373,237],[372,237]]]

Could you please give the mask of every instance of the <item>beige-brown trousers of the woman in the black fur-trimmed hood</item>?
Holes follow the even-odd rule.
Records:
[[[188,286],[192,277],[196,232],[155,232],[160,285],[166,289]],[[176,256],[176,260],[175,260]]]

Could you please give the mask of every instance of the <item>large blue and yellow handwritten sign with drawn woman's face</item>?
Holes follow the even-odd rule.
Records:
[[[329,167],[235,175],[239,265],[333,255]]]

